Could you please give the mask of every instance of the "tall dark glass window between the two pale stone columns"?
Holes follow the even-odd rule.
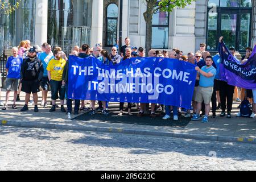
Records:
[[[81,46],[81,39],[84,39],[81,30],[91,24],[92,0],[48,1],[48,43],[53,47],[65,49],[73,43]]]

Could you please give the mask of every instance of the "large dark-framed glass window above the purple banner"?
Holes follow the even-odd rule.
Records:
[[[251,0],[209,0],[207,49],[216,51],[218,38],[224,36],[228,47],[245,51],[251,39]]]

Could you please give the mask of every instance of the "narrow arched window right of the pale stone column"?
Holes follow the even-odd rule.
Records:
[[[117,42],[118,6],[115,3],[111,3],[106,12],[106,46],[109,47],[114,46]]]

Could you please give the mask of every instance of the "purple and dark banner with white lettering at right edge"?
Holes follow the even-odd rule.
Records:
[[[256,89],[256,47],[254,47],[250,58],[243,64],[234,57],[225,43],[219,44],[220,53],[220,80],[228,82],[229,85],[245,89]]]

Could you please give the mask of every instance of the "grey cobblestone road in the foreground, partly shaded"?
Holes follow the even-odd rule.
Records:
[[[0,170],[255,170],[245,143],[0,127]]]

